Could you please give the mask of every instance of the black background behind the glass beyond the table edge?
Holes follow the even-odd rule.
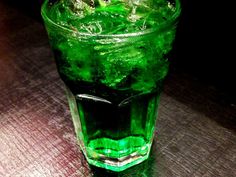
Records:
[[[5,0],[42,22],[43,0]],[[235,30],[230,1],[182,0],[182,15],[171,53],[171,69],[185,72],[236,103]]]

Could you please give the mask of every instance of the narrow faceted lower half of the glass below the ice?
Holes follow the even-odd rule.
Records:
[[[119,91],[109,91],[119,97]],[[112,102],[89,91],[67,92],[77,138],[90,164],[121,171],[148,158],[160,92],[141,93],[120,103],[118,98]]]

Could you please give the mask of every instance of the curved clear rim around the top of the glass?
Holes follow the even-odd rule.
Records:
[[[84,36],[84,37],[119,37],[119,38],[125,38],[125,37],[135,37],[135,36],[143,36],[143,35],[147,35],[147,34],[151,34],[151,33],[155,33],[158,31],[161,31],[163,29],[165,29],[165,27],[167,27],[168,25],[171,25],[172,23],[177,22],[177,19],[180,16],[181,13],[181,3],[180,0],[174,0],[175,1],[175,12],[173,13],[173,15],[168,18],[166,21],[160,23],[157,27],[151,28],[151,29],[147,29],[147,30],[143,30],[143,31],[138,31],[138,32],[133,32],[133,33],[123,33],[123,34],[91,34],[91,33],[84,33],[84,32],[79,32],[79,31],[74,31],[72,29],[69,29],[65,26],[59,25],[56,22],[54,22],[51,18],[48,17],[47,12],[46,12],[46,8],[45,6],[47,5],[49,0],[45,0],[42,4],[41,7],[41,15],[43,17],[44,22],[47,21],[48,23],[52,24],[53,26],[55,26],[56,28],[64,31],[64,32],[69,32],[69,33],[73,33],[74,35],[78,35],[80,37]]]

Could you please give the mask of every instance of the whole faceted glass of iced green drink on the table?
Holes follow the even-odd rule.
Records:
[[[148,158],[179,1],[47,1],[42,16],[87,161]]]

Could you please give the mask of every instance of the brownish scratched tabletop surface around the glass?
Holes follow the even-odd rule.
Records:
[[[236,109],[172,69],[152,153],[122,173],[87,164],[41,22],[0,3],[0,177],[235,177]]]

